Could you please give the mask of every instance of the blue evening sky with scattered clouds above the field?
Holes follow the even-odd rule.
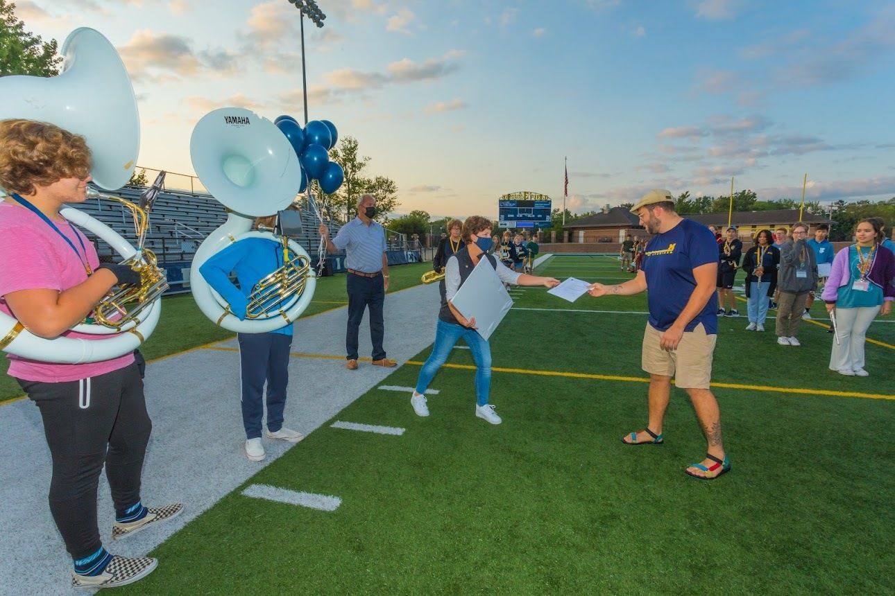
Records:
[[[139,164],[192,173],[202,115],[302,120],[287,0],[16,0],[60,44],[98,29],[138,96]],[[895,196],[895,4],[875,0],[320,0],[311,119],[360,142],[400,211],[497,213],[533,190],[576,212],[644,190]]]

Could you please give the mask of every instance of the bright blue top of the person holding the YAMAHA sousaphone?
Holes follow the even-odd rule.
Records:
[[[264,238],[246,238],[210,256],[199,273],[227,301],[234,315],[243,319],[251,289],[282,266],[282,244]],[[239,288],[230,281],[231,271],[236,273]],[[292,335],[292,323],[271,333]]]

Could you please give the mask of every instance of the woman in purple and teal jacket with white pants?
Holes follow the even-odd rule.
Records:
[[[895,255],[882,248],[881,227],[875,219],[857,223],[857,243],[836,254],[821,296],[827,312],[836,318],[840,340],[833,342],[830,370],[847,376],[869,375],[864,369],[867,328],[877,313],[889,315],[895,299]]]

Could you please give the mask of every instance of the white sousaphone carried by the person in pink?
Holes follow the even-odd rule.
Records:
[[[72,31],[65,39],[61,53],[64,62],[58,76],[0,79],[0,96],[4,97],[0,119],[50,122],[81,135],[93,155],[90,174],[94,182],[103,189],[121,188],[131,179],[140,149],[140,116],[124,63],[107,38],[88,28]],[[91,189],[88,189],[88,196],[128,204],[137,222],[136,212],[129,201],[101,195]],[[136,211],[141,212],[145,229],[147,214],[139,208]],[[140,295],[144,302],[141,318],[124,315],[115,324],[79,323],[70,330],[109,336],[102,340],[84,340],[65,334],[47,340],[25,330],[13,317],[0,313],[0,349],[20,357],[67,364],[123,356],[138,348],[155,330],[161,315],[158,298],[167,287],[164,273],[158,270],[155,257],[149,251],[144,253],[141,245],[132,247],[105,223],[72,207],[64,207],[60,214],[105,240],[128,264],[136,265],[135,270],[141,268],[144,284],[147,279],[152,281],[152,294],[143,292]],[[136,298],[136,295],[128,294],[128,298]],[[117,304],[107,306],[118,309]]]

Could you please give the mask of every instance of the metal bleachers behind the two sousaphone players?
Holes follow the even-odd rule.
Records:
[[[106,192],[98,189],[100,192]],[[125,186],[115,192],[107,193],[122,197],[134,203],[140,201],[141,193],[146,190],[141,186]],[[136,233],[130,212],[115,201],[105,199],[87,199],[76,209],[90,214],[100,222],[121,234],[124,239],[136,246]],[[317,230],[316,216],[309,210],[301,209],[302,231],[293,239],[298,242],[311,258],[317,256],[320,233]],[[202,240],[219,225],[226,222],[226,210],[223,205],[209,194],[182,190],[163,190],[158,193],[149,213],[149,232],[146,236],[145,248],[149,248],[158,257],[158,264],[170,268],[188,269],[192,256],[199,248]],[[328,223],[330,233],[335,235],[339,226]],[[100,260],[117,261],[120,256],[102,239],[88,237],[94,241]],[[181,290],[173,288],[175,291]]]

